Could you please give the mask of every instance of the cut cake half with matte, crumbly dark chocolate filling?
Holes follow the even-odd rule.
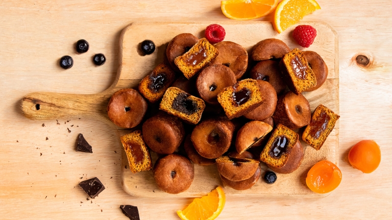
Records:
[[[159,105],[160,110],[193,124],[200,121],[204,108],[205,103],[202,99],[175,87],[166,90]]]

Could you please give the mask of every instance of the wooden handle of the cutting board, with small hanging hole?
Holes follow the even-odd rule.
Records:
[[[92,95],[34,92],[22,98],[22,114],[32,120],[67,117],[89,117],[107,121],[107,103],[110,94]]]

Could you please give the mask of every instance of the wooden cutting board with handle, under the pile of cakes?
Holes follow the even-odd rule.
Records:
[[[267,38],[284,41],[290,48],[298,47],[291,37],[294,27],[282,34],[273,30],[270,22],[133,22],[129,24],[120,37],[119,69],[113,85],[103,92],[93,95],[60,94],[36,92],[27,94],[21,101],[22,113],[30,119],[57,119],[60,117],[89,117],[102,120],[113,127],[118,137],[130,132],[114,125],[107,116],[107,103],[110,96],[121,88],[137,88],[138,83],[159,63],[164,61],[166,46],[169,41],[180,33],[192,33],[198,38],[204,37],[205,27],[211,23],[219,23],[226,30],[225,41],[241,44],[250,53],[253,45]],[[324,85],[316,91],[304,92],[312,111],[319,105],[330,108],[339,114],[339,45],[337,33],[323,22],[302,22],[317,29],[315,42],[308,49],[320,54],[328,66],[328,78]],[[144,56],[140,51],[140,43],[152,40],[156,50]],[[121,142],[120,142],[121,143]],[[338,165],[339,153],[339,121],[325,141],[321,150],[316,151],[306,143],[305,156],[301,166],[292,174],[277,174],[274,184],[266,184],[262,176],[267,167],[261,165],[262,176],[248,190],[237,191],[225,187],[226,195],[252,197],[323,197],[328,194],[315,194],[305,184],[305,177],[310,167],[316,162],[328,159]],[[123,147],[121,146],[121,149]],[[157,159],[151,153],[153,163]],[[152,171],[132,174],[128,167],[125,152],[122,150],[122,185],[126,193],[139,197],[200,197],[206,195],[218,185],[223,186],[215,165],[195,165],[195,179],[191,187],[183,193],[171,195],[162,192],[155,184]]]

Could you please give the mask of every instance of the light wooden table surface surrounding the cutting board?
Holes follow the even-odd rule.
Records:
[[[220,220],[391,218],[392,1],[319,4],[322,9],[304,20],[327,22],[339,35],[342,183],[326,198],[227,197]],[[133,198],[123,191],[121,149],[109,126],[83,118],[31,121],[18,105],[29,92],[108,88],[117,72],[119,36],[130,22],[226,20],[220,0],[1,0],[0,219],[125,220],[121,204],[138,206],[142,220],[177,219],[175,211],[192,199]],[[85,54],[74,52],[79,39],[90,43]],[[94,66],[95,53],[105,54],[105,65]],[[370,57],[371,65],[359,67],[358,54]],[[58,66],[63,55],[74,59],[69,70]],[[74,151],[78,133],[94,154]],[[349,149],[362,139],[381,147],[381,164],[372,174],[347,163]],[[106,189],[87,200],[77,184],[94,176]]]

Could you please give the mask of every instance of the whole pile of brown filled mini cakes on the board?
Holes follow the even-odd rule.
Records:
[[[312,116],[301,94],[327,78],[316,52],[265,39],[253,47],[255,65],[248,66],[243,46],[184,33],[168,44],[166,56],[168,62],[156,66],[139,90],[115,92],[107,108],[119,127],[142,124],[121,137],[129,168],[153,169],[164,192],[187,190],[193,163],[216,164],[224,185],[236,190],[258,181],[260,161],[276,173],[292,173],[304,157],[294,130],[306,126],[302,139],[319,150],[339,118],[322,105]],[[160,155],[153,168],[150,151]]]

